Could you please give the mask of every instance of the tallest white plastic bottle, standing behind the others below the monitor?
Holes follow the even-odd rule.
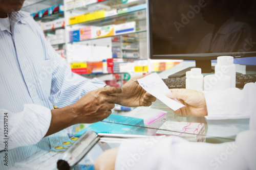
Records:
[[[219,77],[222,75],[230,76],[231,87],[236,87],[236,65],[234,65],[234,58],[232,56],[218,57],[215,66],[215,75]]]

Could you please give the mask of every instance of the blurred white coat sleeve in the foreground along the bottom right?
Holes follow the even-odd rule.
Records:
[[[221,144],[175,136],[127,140],[119,147],[115,170],[255,169],[255,134],[242,132],[236,141]]]

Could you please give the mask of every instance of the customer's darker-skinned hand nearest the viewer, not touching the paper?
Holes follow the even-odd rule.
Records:
[[[111,114],[115,107],[114,102],[121,93],[121,88],[104,87],[90,91],[73,105],[75,123],[94,123],[103,120]]]

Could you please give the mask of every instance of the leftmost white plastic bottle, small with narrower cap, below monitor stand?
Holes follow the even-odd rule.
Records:
[[[204,76],[201,74],[201,68],[192,68],[191,75],[188,78],[189,89],[203,91],[204,90]]]

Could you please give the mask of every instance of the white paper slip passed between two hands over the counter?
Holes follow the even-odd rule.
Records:
[[[144,90],[155,96],[157,99],[159,99],[161,102],[163,102],[174,111],[185,106],[179,101],[170,99],[165,95],[167,92],[170,92],[170,90],[165,85],[163,80],[156,74],[156,72],[141,79],[138,79],[138,82]]]

